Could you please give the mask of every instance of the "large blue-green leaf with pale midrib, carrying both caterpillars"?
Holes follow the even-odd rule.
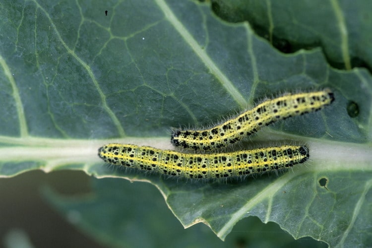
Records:
[[[346,23],[352,11],[368,9],[335,9],[331,2]],[[367,69],[335,69],[321,48],[283,54],[248,22],[228,23],[209,4],[191,0],[4,1],[0,8],[1,177],[73,169],[149,181],[185,227],[205,222],[222,240],[239,220],[257,216],[296,239],[310,236],[331,246],[371,242]],[[363,29],[313,16],[342,34],[335,50],[345,68],[348,52],[361,49],[371,58],[371,46],[348,43],[345,50],[342,43],[353,32],[366,35]],[[290,25],[285,13],[274,24],[277,19]],[[368,19],[363,23],[371,29]],[[317,35],[340,44],[326,30]],[[291,37],[306,44],[302,30]],[[371,68],[366,58],[361,60]],[[109,142],[172,149],[170,127],[217,123],[264,97],[325,87],[335,92],[331,106],[266,127],[243,143],[307,143],[310,161],[293,172],[191,182],[113,169],[97,156]]]

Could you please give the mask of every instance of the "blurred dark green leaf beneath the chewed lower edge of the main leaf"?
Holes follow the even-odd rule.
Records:
[[[324,243],[309,238],[294,241],[278,225],[263,225],[253,217],[240,221],[234,227],[235,231],[222,242],[206,225],[197,224],[184,229],[169,211],[160,192],[149,184],[131,184],[126,180],[107,178],[92,180],[92,187],[93,193],[83,196],[61,195],[50,188],[43,188],[43,193],[69,222],[110,247],[222,248],[258,247],[262,244],[275,247],[277,242],[282,247],[299,244],[301,247],[325,247]],[[262,240],[262,235],[265,240]]]

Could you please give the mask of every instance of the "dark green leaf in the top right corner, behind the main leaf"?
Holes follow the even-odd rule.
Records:
[[[332,66],[371,69],[369,0],[212,0],[212,8],[226,20],[248,21],[281,51],[321,46]]]

